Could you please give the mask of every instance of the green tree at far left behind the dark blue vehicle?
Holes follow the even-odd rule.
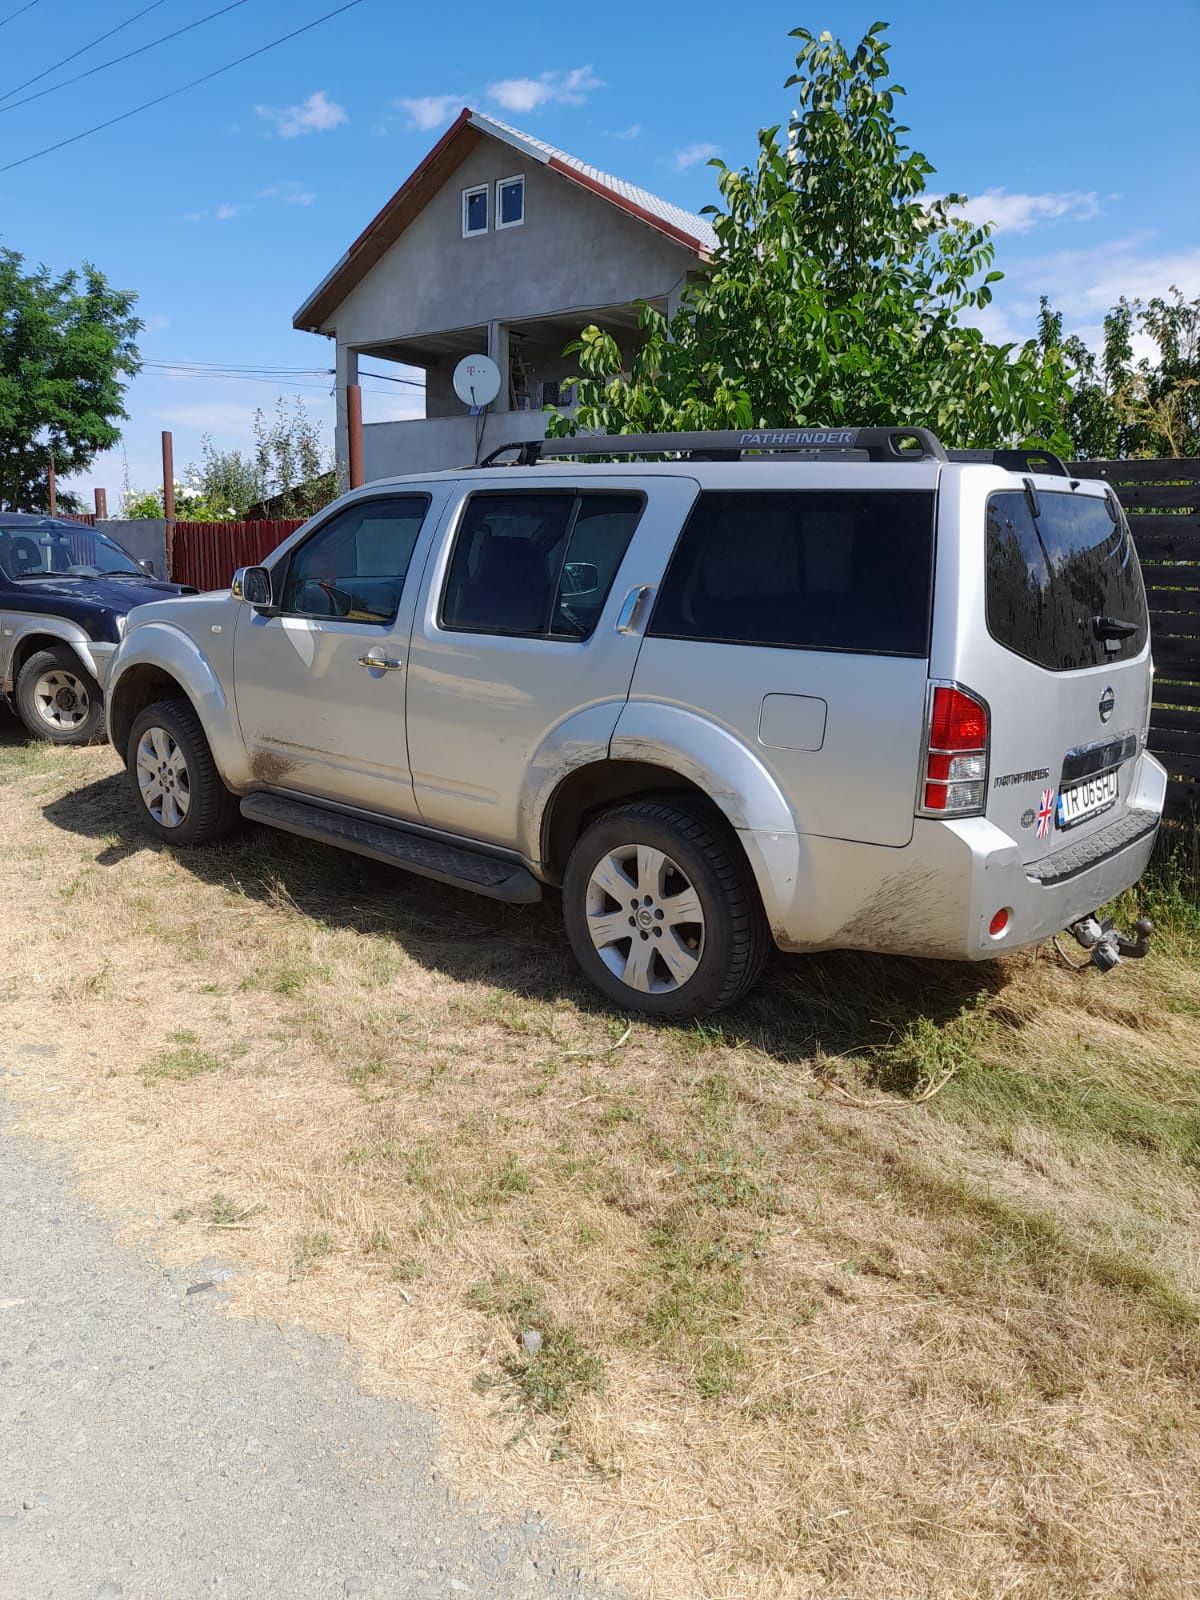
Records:
[[[120,438],[125,379],[139,368],[134,302],[88,262],[26,272],[0,246],[0,506],[45,507],[51,458],[69,477]]]

